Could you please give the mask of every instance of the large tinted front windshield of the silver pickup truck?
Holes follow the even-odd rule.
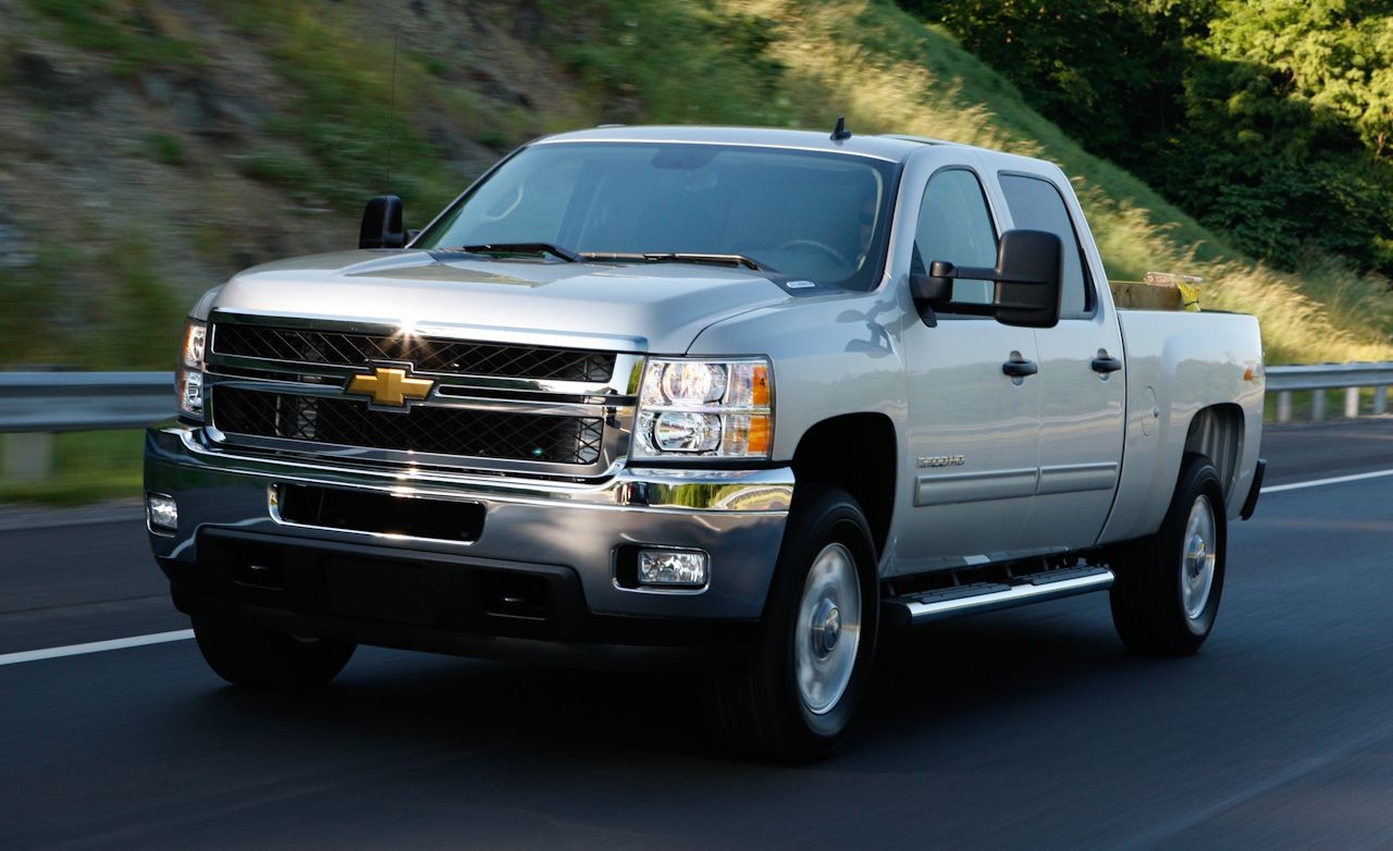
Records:
[[[894,163],[780,148],[540,143],[474,187],[414,247],[740,255],[868,290],[885,256],[894,174]]]

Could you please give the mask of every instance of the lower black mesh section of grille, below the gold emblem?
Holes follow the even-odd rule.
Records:
[[[373,411],[359,400],[219,387],[213,428],[228,435],[305,440],[472,458],[595,464],[605,421],[418,405]]]

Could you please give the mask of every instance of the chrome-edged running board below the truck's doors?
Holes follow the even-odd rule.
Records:
[[[1112,585],[1113,571],[1106,567],[1070,567],[1020,577],[1014,585],[975,582],[890,598],[880,603],[880,617],[887,627],[908,627],[960,614],[1071,598]]]

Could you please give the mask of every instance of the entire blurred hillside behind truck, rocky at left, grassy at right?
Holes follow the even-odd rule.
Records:
[[[167,368],[194,295],[354,245],[389,169],[422,224],[542,132],[839,113],[1059,160],[1112,274],[1217,279],[1275,359],[1393,357],[1386,281],[1254,263],[890,0],[0,0],[0,365]]]

